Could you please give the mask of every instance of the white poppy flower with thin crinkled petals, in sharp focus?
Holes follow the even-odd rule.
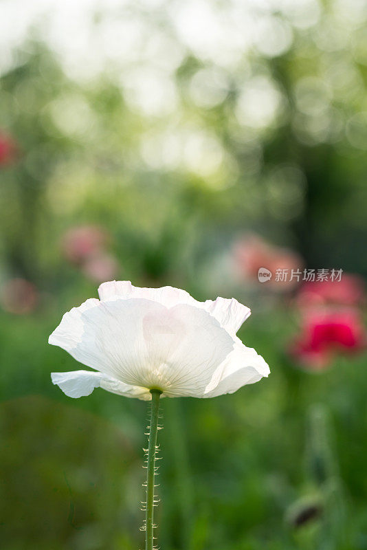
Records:
[[[198,302],[181,289],[129,281],[102,283],[98,294],[65,314],[49,337],[97,371],[52,373],[69,397],[98,387],[145,400],[153,388],[168,397],[216,397],[269,375],[236,336],[251,311],[234,298]]]

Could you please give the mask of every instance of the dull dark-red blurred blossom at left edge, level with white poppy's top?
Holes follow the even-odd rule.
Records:
[[[30,314],[38,303],[38,291],[30,281],[13,278],[1,285],[0,302],[10,314]]]

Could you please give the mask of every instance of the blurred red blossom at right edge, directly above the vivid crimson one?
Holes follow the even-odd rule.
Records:
[[[364,281],[361,277],[342,274],[340,281],[310,281],[304,283],[296,298],[299,307],[340,304],[360,305],[364,302]]]

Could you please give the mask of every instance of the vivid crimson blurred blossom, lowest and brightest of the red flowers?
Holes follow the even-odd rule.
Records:
[[[335,353],[355,353],[366,348],[367,338],[356,309],[313,310],[304,318],[302,332],[290,353],[307,369],[322,370]]]

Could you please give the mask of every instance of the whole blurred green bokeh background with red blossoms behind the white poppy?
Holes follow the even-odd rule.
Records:
[[[162,549],[367,549],[366,20],[363,0],[0,1],[4,549],[143,547],[146,404],[49,377],[78,368],[49,333],[113,278],[236,297],[271,367],[162,401]]]

